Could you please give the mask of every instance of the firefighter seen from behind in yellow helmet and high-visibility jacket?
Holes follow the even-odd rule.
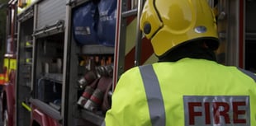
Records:
[[[206,0],[147,0],[140,29],[159,63],[122,74],[104,124],[256,125],[256,77],[216,62],[216,20]]]

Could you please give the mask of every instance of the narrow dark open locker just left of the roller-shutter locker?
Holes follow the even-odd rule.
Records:
[[[30,15],[30,16],[28,16]],[[26,126],[30,124],[30,111],[23,106],[31,96],[31,63],[26,60],[32,59],[32,46],[25,47],[26,42],[31,42],[33,32],[33,9],[26,10],[18,16],[17,36],[17,81],[15,86],[15,125]],[[24,20],[21,20],[24,19]],[[25,20],[26,19],[26,20]]]

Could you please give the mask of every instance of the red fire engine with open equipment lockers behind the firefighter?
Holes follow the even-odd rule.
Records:
[[[139,30],[144,2],[10,0],[4,125],[101,125],[121,73],[157,62]],[[218,62],[254,72],[256,1],[208,2],[218,22]]]

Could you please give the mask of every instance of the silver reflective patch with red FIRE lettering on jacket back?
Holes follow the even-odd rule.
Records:
[[[183,96],[185,126],[249,126],[249,96]]]

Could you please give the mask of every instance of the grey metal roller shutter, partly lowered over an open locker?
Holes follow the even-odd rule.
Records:
[[[44,0],[38,4],[36,29],[50,26],[59,20],[65,20],[66,1]]]

